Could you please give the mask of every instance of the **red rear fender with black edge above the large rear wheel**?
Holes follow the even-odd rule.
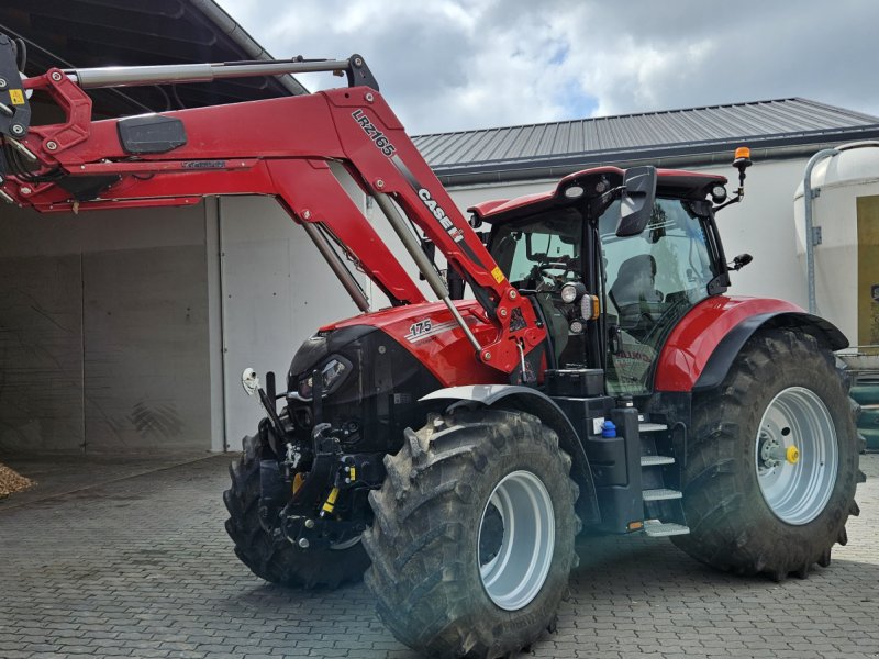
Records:
[[[848,346],[833,323],[771,298],[716,295],[697,304],[671,331],[656,365],[656,391],[700,391],[719,386],[750,336],[764,326],[800,327],[831,349]]]

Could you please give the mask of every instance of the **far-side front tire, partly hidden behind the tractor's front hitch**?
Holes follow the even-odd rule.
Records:
[[[369,566],[363,543],[344,549],[302,550],[279,530],[260,524],[259,436],[245,437],[242,448],[241,458],[229,467],[232,487],[223,492],[230,514],[226,533],[241,561],[260,579],[283,585],[337,588],[359,580]]]

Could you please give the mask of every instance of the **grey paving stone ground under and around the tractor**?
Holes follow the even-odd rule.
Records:
[[[0,658],[416,659],[368,592],[266,584],[223,530],[229,456],[0,504]],[[578,543],[542,658],[879,657],[879,455],[833,565],[777,584],[717,573],[661,539]]]

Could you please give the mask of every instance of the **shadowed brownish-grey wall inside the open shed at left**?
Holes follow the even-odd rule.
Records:
[[[207,449],[204,208],[0,213],[0,450]]]

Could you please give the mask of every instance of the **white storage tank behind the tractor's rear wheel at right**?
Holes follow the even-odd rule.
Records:
[[[879,142],[837,147],[812,169],[816,313],[853,346],[879,345]],[[797,255],[806,278],[803,183],[793,197]]]

